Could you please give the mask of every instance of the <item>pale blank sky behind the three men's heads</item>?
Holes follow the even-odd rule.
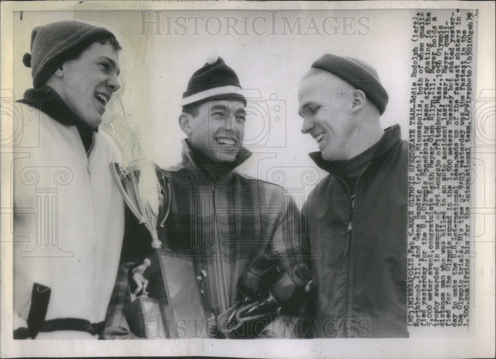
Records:
[[[159,27],[143,23],[155,21],[157,15]],[[106,10],[24,11],[21,19],[17,12],[14,94],[21,97],[31,87],[31,70],[21,59],[29,52],[35,26],[65,19],[105,26],[123,46],[123,86],[109,103],[101,128],[113,135],[124,163],[146,157],[168,167],[181,159],[185,135],[178,124],[179,104],[187,82],[207,60],[220,56],[247,89],[245,146],[254,154],[240,172],[285,186],[301,206],[325,176],[308,157],[318,150],[316,142],[301,133],[297,101],[301,77],[325,53],[371,63],[389,94],[381,125],[399,123],[406,138],[413,16],[415,10],[396,9]]]

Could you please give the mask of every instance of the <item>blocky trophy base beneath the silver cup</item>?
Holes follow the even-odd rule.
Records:
[[[128,305],[131,330],[146,338],[208,338],[193,261],[167,249],[155,249],[149,258],[143,275],[150,297],[138,297]]]

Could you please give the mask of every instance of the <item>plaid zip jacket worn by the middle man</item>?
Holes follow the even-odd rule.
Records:
[[[250,155],[240,152],[237,166]],[[207,273],[198,284],[207,311],[217,316],[241,299],[238,281],[265,251],[282,254],[281,272],[301,261],[300,214],[284,188],[225,166],[198,166],[186,141],[182,163],[164,174],[171,182],[172,203],[159,238],[179,256],[193,258],[197,275]],[[121,265],[106,318],[106,328],[120,328],[124,337],[128,271],[150,252],[149,232],[127,211]]]

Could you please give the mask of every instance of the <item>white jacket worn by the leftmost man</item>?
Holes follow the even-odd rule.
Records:
[[[120,161],[118,149],[94,132],[87,157],[76,126],[17,105],[24,128],[13,161],[14,310],[27,319],[36,282],[52,290],[46,320],[102,321],[124,234],[124,203],[109,166]]]

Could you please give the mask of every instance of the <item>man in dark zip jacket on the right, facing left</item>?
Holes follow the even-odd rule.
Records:
[[[312,250],[313,331],[319,337],[408,337],[406,218],[408,143],[383,130],[388,96],[368,63],[326,54],[299,92],[312,160],[329,176],[303,216]]]

